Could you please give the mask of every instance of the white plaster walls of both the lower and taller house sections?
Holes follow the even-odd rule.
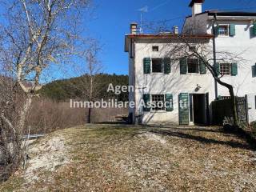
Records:
[[[197,34],[211,34],[211,22],[207,20],[207,14],[200,14],[195,19],[186,18],[183,32],[193,25],[199,25]],[[226,24],[230,22],[218,22]],[[256,95],[256,78],[252,77],[252,66],[256,62],[256,37],[252,37],[250,33],[250,25],[248,22],[231,22],[236,25],[236,35],[234,37],[218,37],[216,38],[217,51],[227,51],[233,54],[239,54],[242,58],[238,62],[238,75],[226,76],[222,80],[234,86],[234,93],[240,97],[248,94],[249,106],[255,106],[254,97]],[[210,46],[212,41],[210,41]],[[159,52],[152,52],[152,46],[159,46]],[[173,94],[174,111],[172,112],[143,112],[138,107],[135,112],[142,114],[143,123],[174,123],[178,124],[178,94],[206,94],[209,93],[209,102],[214,101],[214,79],[209,71],[207,74],[180,74],[179,63],[172,66],[170,74],[144,74],[143,58],[163,58],[168,52],[168,43],[154,42],[148,40],[135,43],[135,58],[130,62],[130,75],[133,75],[133,65],[135,67],[135,102],[138,106],[142,100],[143,94]],[[217,56],[218,57],[218,56]],[[195,92],[197,85],[202,88]],[[132,94],[133,95],[133,94]],[[228,96],[228,90],[218,85],[218,95]],[[131,96],[130,96],[131,97]],[[211,111],[210,111],[211,114]],[[249,110],[250,122],[256,120],[256,111],[252,108]]]

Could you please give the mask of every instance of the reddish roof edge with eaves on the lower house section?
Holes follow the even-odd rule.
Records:
[[[213,37],[212,34],[126,34],[125,51],[127,52],[129,50],[130,39],[210,39]]]

